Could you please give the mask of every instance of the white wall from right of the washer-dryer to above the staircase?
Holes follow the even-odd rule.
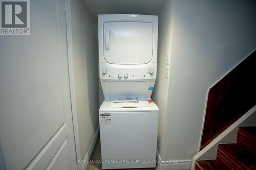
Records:
[[[160,106],[160,156],[188,160],[198,152],[208,87],[256,48],[256,2],[175,0],[172,29],[166,9],[172,9],[170,2],[159,13],[160,27],[168,28],[166,40],[160,32],[159,42],[169,44],[172,32],[169,86],[166,90],[161,68],[168,47],[159,47],[159,82],[153,95]]]

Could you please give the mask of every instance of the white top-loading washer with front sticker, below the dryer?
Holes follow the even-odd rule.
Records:
[[[156,166],[158,112],[152,100],[105,100],[99,111],[103,169]]]

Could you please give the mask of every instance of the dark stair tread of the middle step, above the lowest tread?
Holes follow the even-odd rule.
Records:
[[[256,169],[256,155],[238,143],[219,144],[219,149],[238,164],[248,169]]]

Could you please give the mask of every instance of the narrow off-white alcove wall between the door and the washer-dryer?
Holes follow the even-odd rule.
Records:
[[[98,128],[97,23],[80,0],[71,1],[75,99],[81,157]]]

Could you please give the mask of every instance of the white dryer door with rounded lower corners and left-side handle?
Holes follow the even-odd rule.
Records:
[[[111,64],[146,64],[152,60],[153,24],[105,22],[104,58]]]

